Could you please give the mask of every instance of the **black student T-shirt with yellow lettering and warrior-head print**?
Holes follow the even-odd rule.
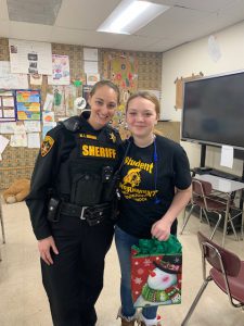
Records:
[[[190,185],[189,161],[180,145],[162,136],[146,148],[132,142],[121,171],[117,225],[138,238],[151,238],[151,227],[169,209],[175,187],[187,189]],[[176,224],[171,233],[176,233]]]

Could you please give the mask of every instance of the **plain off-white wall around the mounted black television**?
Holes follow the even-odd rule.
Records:
[[[244,70],[244,22],[214,34],[219,46],[221,58],[215,62],[208,53],[208,37],[185,43],[163,53],[162,73],[162,118],[181,121],[181,110],[176,110],[175,80],[192,74],[210,76]],[[196,143],[181,142],[192,167],[200,166],[201,147]],[[229,173],[242,175],[243,162],[234,160],[233,168],[222,167],[220,149],[207,147],[206,165]]]

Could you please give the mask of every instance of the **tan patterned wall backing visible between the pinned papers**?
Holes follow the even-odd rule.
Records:
[[[118,54],[117,54],[118,53]],[[123,50],[115,50],[115,49],[99,49],[99,73],[101,79],[105,79],[108,77],[107,75],[107,58],[110,54],[113,54],[115,58],[118,58],[119,54],[127,53],[128,58],[132,58],[134,62],[126,61],[129,64],[129,71],[137,73],[137,78],[133,79],[133,83],[127,86],[126,89],[133,90],[160,90],[162,88],[162,53],[157,52],[134,52],[134,51],[123,51]],[[69,72],[70,72],[70,80],[72,83],[75,79],[82,79],[84,78],[84,47],[81,46],[73,46],[73,45],[61,45],[61,43],[52,43],[52,54],[60,54],[60,55],[68,55],[69,58]],[[0,38],[0,61],[9,61],[9,40],[7,38]],[[123,59],[125,60],[125,59]],[[120,60],[120,64],[124,61]],[[128,59],[127,59],[128,60]],[[113,61],[113,60],[112,60]],[[117,72],[116,64],[112,65],[114,72]],[[128,72],[128,71],[127,71]],[[129,78],[131,79],[130,75]],[[29,79],[30,82],[30,79]],[[126,80],[124,80],[126,82]],[[120,86],[119,86],[120,87]],[[42,84],[33,85],[29,84],[29,89],[31,90],[39,90],[40,91],[40,103],[41,108],[44,105],[44,100],[48,93],[53,92],[53,86],[48,85],[48,76],[42,76]],[[120,87],[121,89],[121,87]],[[81,88],[77,87],[76,96],[81,96]],[[72,90],[69,90],[72,92]],[[123,92],[123,89],[121,89]],[[66,97],[67,102],[65,104],[65,110],[72,110],[72,93]],[[120,106],[121,115],[124,113],[124,108]],[[70,113],[72,114],[72,113]],[[120,123],[118,118],[118,123]],[[121,124],[121,131],[125,130],[125,126]],[[3,135],[4,137],[9,138],[9,135]],[[126,131],[124,134],[126,137]],[[30,178],[33,168],[35,165],[35,161],[39,149],[31,149],[31,148],[12,148],[10,146],[7,147],[2,154],[2,161],[0,161],[0,189],[8,188],[13,180],[17,178]]]

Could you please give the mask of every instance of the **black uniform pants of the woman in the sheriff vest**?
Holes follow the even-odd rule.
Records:
[[[53,325],[94,326],[94,304],[103,288],[104,258],[111,247],[111,221],[89,226],[78,217],[61,216],[52,223],[59,255],[49,266],[41,260],[42,281]]]

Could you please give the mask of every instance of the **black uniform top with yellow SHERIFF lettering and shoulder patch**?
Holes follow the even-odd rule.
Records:
[[[98,176],[97,184],[92,184],[93,191],[85,189],[84,196],[79,196],[80,204],[82,198],[90,198],[90,195],[95,193],[97,186],[101,185],[103,166],[110,165],[114,171],[118,166],[120,137],[117,130],[110,126],[95,130],[86,118],[75,117],[76,124],[78,123],[77,130],[57,125],[47,134],[41,145],[31,177],[30,193],[26,199],[37,239],[51,235],[47,221],[51,196],[77,203],[70,198],[76,175],[89,172],[90,175]],[[94,198],[94,204],[100,202],[101,200]]]

